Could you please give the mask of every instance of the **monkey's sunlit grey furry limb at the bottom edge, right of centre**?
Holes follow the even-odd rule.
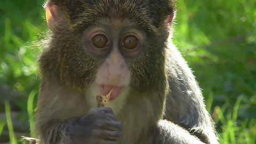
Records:
[[[188,131],[166,120],[159,121],[153,132],[152,144],[203,144]]]

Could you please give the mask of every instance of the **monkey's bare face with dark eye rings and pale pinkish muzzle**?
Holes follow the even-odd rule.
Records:
[[[102,60],[94,81],[99,94],[106,95],[113,89],[110,100],[114,100],[134,85],[131,70],[146,51],[146,39],[145,31],[127,20],[100,20],[84,31],[82,41],[85,52],[95,61]]]

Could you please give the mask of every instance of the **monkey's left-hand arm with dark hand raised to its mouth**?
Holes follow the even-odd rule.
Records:
[[[119,139],[122,124],[107,107],[87,108],[80,92],[63,89],[51,82],[41,83],[36,130],[45,144],[106,143]]]

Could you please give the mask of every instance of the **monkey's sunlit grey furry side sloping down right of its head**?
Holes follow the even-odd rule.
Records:
[[[180,125],[205,143],[218,143],[213,121],[191,69],[175,46],[171,47],[169,54],[170,93],[167,95],[164,119]]]

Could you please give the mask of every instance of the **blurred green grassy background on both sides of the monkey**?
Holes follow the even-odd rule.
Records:
[[[34,44],[47,28],[43,4],[0,1],[0,143],[34,135],[40,82]],[[177,6],[174,43],[203,90],[220,143],[255,143],[256,1],[178,0]]]

